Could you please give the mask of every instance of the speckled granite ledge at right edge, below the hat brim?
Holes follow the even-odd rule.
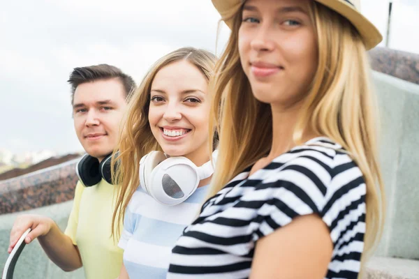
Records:
[[[419,54],[376,47],[369,56],[374,70],[419,84]]]

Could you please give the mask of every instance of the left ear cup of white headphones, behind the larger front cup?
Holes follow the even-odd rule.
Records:
[[[142,190],[145,190],[149,195],[152,192],[150,188],[153,186],[152,181],[150,181],[153,169],[166,159],[166,155],[163,152],[152,151],[140,160],[140,185]]]

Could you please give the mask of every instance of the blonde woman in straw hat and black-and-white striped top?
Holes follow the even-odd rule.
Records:
[[[212,1],[232,31],[210,82],[219,156],[168,278],[358,278],[384,217],[380,33],[356,0]]]

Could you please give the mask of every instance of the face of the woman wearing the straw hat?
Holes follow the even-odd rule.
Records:
[[[246,1],[238,47],[256,99],[297,103],[309,90],[318,61],[309,0]]]

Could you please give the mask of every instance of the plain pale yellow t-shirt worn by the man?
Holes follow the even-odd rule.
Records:
[[[115,186],[103,179],[95,186],[84,187],[80,181],[75,186],[64,233],[78,246],[87,279],[115,279],[121,271],[124,251],[117,246],[119,239],[110,236],[115,195]]]

